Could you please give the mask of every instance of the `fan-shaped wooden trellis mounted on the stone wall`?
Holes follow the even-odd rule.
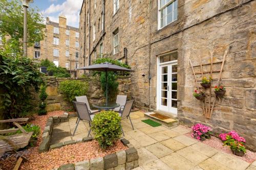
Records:
[[[203,89],[204,94],[205,94],[205,97],[201,100],[201,104],[202,104],[202,108],[203,108],[203,114],[206,118],[211,118],[212,112],[216,105],[217,95],[215,93],[212,93],[212,88],[215,88],[215,86],[220,86],[222,70],[224,67],[227,52],[228,52],[228,50],[225,51],[222,61],[218,61],[218,62],[213,62],[212,53],[210,56],[210,63],[202,63],[201,56],[199,56],[199,62],[200,62],[199,65],[193,65],[193,62],[189,59],[189,64],[193,71],[197,89],[198,90]],[[220,63],[221,63],[221,67],[219,69],[216,69],[216,68],[218,68],[218,66],[214,66],[214,65],[218,65]],[[210,65],[210,70],[205,69],[205,67],[207,67],[209,65]],[[196,68],[196,67],[200,67],[200,71],[195,72],[194,68]],[[205,77],[204,75],[207,74],[210,78],[212,78],[213,73],[217,73],[217,74],[219,73],[217,79],[216,78],[212,79],[214,81],[217,80],[216,84],[214,86],[212,86],[213,83],[212,83],[212,81],[210,81],[210,86],[209,86],[210,88],[200,87],[198,82],[202,81],[202,79]],[[199,75],[199,76],[196,76],[196,75]]]

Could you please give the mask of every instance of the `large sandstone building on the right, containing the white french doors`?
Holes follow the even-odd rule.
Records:
[[[84,0],[79,64],[92,64],[100,53],[127,62],[135,70],[131,88],[137,107],[177,114],[182,124],[203,123],[216,133],[235,130],[255,150],[255,17],[254,0]],[[200,58],[207,64],[212,56],[218,70],[225,51],[221,85],[226,94],[217,99],[211,118],[205,118],[200,101],[193,96],[197,85],[189,59],[200,65]],[[203,69],[209,77],[209,67]],[[215,85],[218,72],[212,77]]]

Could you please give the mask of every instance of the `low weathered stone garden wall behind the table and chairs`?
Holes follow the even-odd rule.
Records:
[[[58,90],[59,83],[65,80],[77,80],[77,81],[84,81],[89,83],[88,89],[88,100],[89,103],[96,104],[100,102],[104,102],[105,97],[103,95],[103,91],[100,88],[100,81],[99,77],[87,77],[87,78],[55,78],[55,77],[47,77],[46,78],[46,93],[48,94],[46,103],[47,111],[54,111],[54,110],[68,110],[73,109],[73,104],[65,100],[65,95],[62,94]],[[125,94],[127,95],[127,100],[131,99],[131,78],[129,76],[120,77],[118,80],[118,94]],[[34,104],[37,106],[39,101],[39,94],[34,94]]]

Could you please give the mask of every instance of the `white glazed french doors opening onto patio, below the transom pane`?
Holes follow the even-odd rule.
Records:
[[[159,110],[177,114],[177,61],[158,67]]]

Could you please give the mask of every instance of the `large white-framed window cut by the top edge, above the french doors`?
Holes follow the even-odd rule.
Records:
[[[158,0],[158,30],[178,18],[178,0]]]

